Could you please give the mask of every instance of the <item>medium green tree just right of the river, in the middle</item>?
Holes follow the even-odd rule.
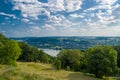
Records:
[[[66,69],[67,66],[73,71],[80,71],[83,62],[83,52],[80,50],[61,50],[57,55],[61,61],[61,67]]]

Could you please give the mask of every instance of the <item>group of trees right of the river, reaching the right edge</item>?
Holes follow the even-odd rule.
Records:
[[[66,69],[95,74],[96,77],[120,73],[120,46],[94,46],[85,51],[61,50],[54,64],[56,69]]]

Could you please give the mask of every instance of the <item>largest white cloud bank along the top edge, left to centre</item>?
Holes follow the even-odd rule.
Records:
[[[48,0],[48,3],[38,0],[13,0],[13,4],[13,10],[21,10],[23,17],[38,19],[39,15],[50,16],[50,12],[79,10],[82,0]]]

